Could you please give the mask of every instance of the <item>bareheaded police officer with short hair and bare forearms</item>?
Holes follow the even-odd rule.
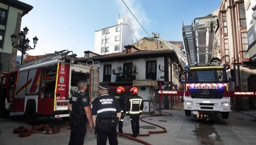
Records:
[[[69,145],[84,145],[87,120],[89,123],[89,131],[92,130],[91,110],[88,103],[88,95],[85,93],[87,83],[85,80],[80,80],[77,86],[79,91],[75,92],[68,102],[68,108],[71,111]]]

